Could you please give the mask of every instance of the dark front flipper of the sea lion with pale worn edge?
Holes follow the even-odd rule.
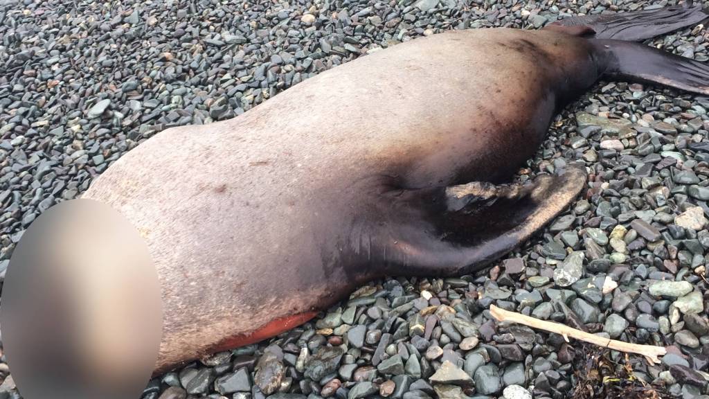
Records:
[[[443,204],[425,207],[423,220],[408,213],[389,246],[390,275],[462,275],[522,244],[557,216],[586,185],[586,168],[568,165],[558,175],[541,175],[525,185],[484,182],[447,187]],[[410,199],[409,204],[414,204]]]

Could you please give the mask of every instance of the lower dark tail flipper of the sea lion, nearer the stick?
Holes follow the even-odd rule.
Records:
[[[603,75],[709,95],[709,65],[640,43],[592,39],[605,64]]]

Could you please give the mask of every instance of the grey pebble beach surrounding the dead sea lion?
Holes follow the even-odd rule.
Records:
[[[425,35],[671,4],[0,0],[0,278],[38,215],[160,131],[231,119]],[[708,38],[694,26],[647,45],[708,62]],[[598,82],[513,178],[589,175],[522,247],[474,275],[362,286],[279,337],[153,378],[143,399],[709,398],[708,110],[709,97]],[[649,364],[501,324],[491,305],[667,354]],[[21,398],[4,356],[0,381],[0,399]]]

